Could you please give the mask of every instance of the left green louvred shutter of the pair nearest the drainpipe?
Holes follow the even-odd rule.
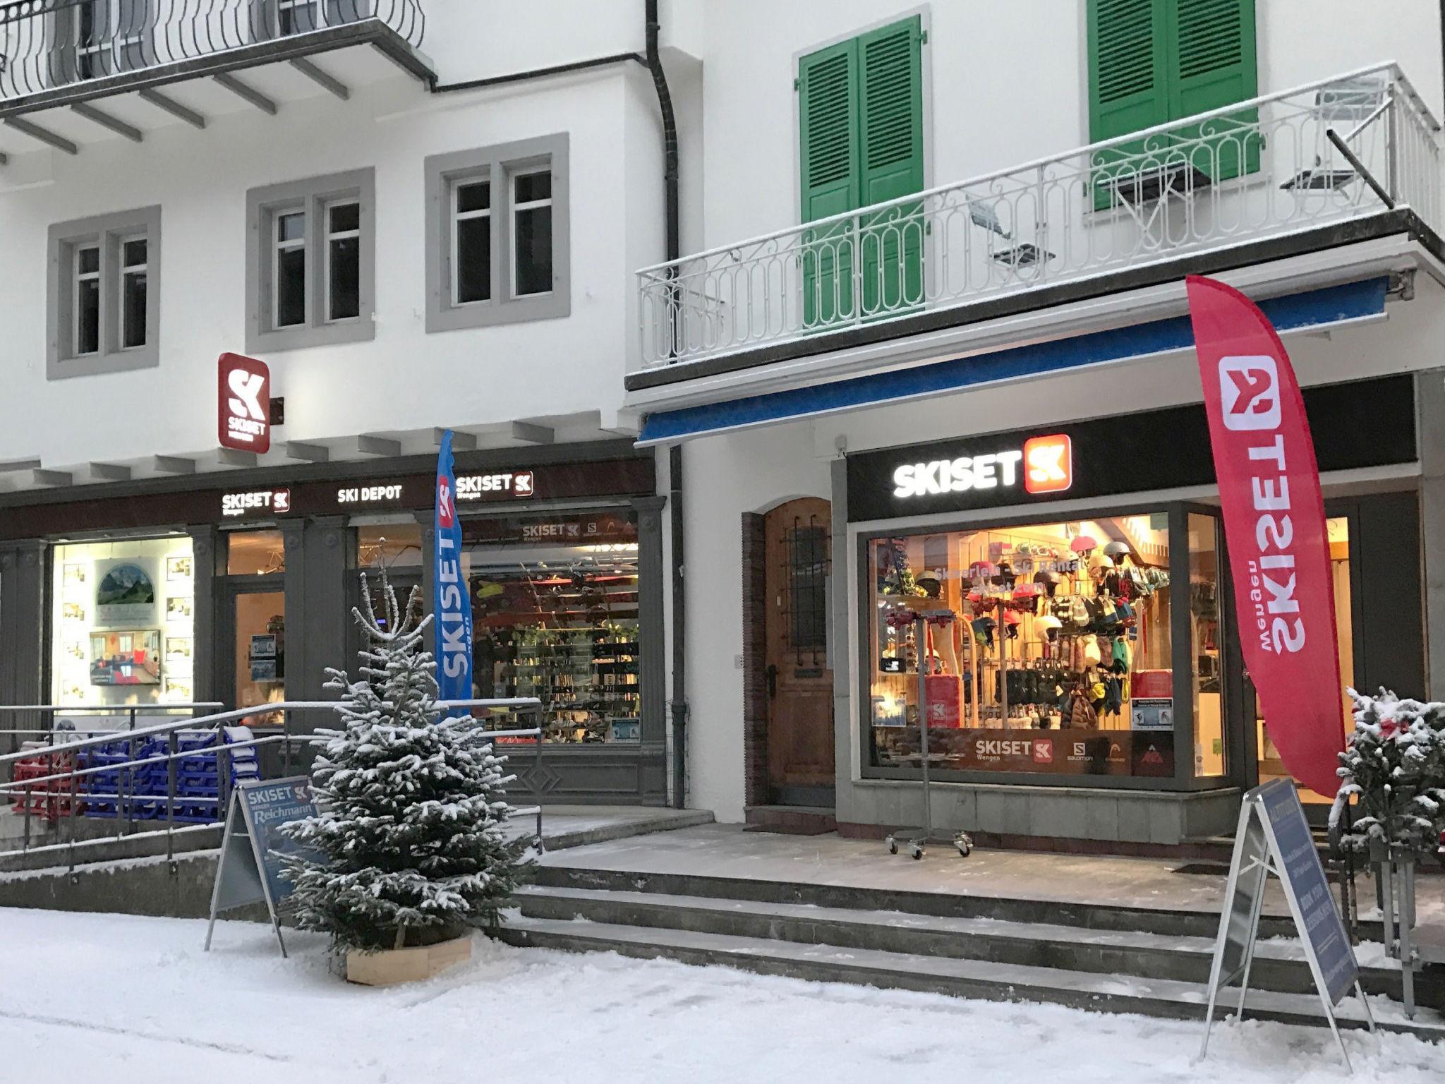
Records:
[[[858,207],[858,48],[855,40],[798,62],[802,221]],[[803,325],[854,314],[855,237],[848,221],[803,234]]]

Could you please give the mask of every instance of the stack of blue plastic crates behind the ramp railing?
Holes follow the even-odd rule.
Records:
[[[107,743],[88,750],[91,763],[121,765],[130,759],[152,760],[156,763],[140,765],[126,773],[126,795],[117,798],[121,783],[120,770],[95,772],[82,779],[87,782],[90,793],[97,795],[87,801],[88,817],[129,817],[136,821],[166,820],[166,793],[169,785],[171,765],[175,765],[175,795],[171,802],[171,818],[191,824],[210,824],[225,815],[221,808],[221,746],[247,741],[251,731],[247,727],[223,727],[220,733],[214,730],[178,730],[175,731],[173,762],[163,757],[171,756],[172,744],[169,736],[152,737],[136,741],[134,757],[127,752],[126,741]],[[246,779],[260,779],[260,765],[256,759],[256,749],[237,749],[230,753],[230,786]]]

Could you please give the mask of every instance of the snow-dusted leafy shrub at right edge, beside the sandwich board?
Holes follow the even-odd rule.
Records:
[[[1340,754],[1340,796],[1355,799],[1344,843],[1355,850],[1399,844],[1433,854],[1445,831],[1445,704],[1400,700],[1380,689],[1355,704],[1355,733]]]

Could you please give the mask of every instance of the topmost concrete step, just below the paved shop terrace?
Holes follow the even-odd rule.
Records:
[[[880,854],[887,859],[887,854]],[[894,859],[906,861],[906,859]],[[818,908],[933,915],[939,918],[991,918],[1006,922],[1040,922],[1095,931],[1143,931],[1170,937],[1214,938],[1218,912],[1175,911],[1052,899],[961,895],[815,885],[809,882],[763,880],[762,877],[715,877],[692,873],[643,873],[582,866],[546,864],[533,870],[535,885],[556,889],[603,889],[611,892],[655,892],[666,896],[701,896],[753,903],[809,903]],[[1289,918],[1266,915],[1260,937],[1295,937]],[[1379,939],[1379,922],[1361,925],[1361,935]]]

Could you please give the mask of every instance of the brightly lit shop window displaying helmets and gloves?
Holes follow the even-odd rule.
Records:
[[[922,666],[935,767],[1173,778],[1165,513],[880,538],[868,564],[873,766],[919,766]]]

